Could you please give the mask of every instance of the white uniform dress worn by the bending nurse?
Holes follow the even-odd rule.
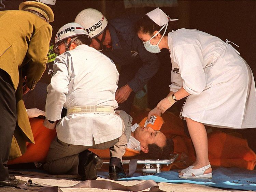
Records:
[[[181,117],[222,128],[256,127],[256,90],[252,71],[234,48],[194,29],[168,34],[172,84],[187,97]],[[179,72],[177,73],[177,71]]]

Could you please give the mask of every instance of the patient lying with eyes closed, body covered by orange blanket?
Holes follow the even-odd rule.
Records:
[[[160,130],[163,123],[162,118],[153,118],[152,123],[148,123],[147,125],[145,124],[145,120],[146,117],[141,120],[140,125],[137,123],[132,125],[131,136],[127,145],[129,149],[126,150],[124,157],[130,159],[134,158],[136,154],[139,154],[139,157],[136,156],[138,159],[168,159],[169,154],[173,152],[173,141],[172,139],[167,139],[162,132],[154,130]],[[8,162],[9,165],[29,162],[45,163],[49,146],[56,137],[56,131],[55,129],[50,130],[44,127],[43,121],[44,119],[41,118],[30,118],[35,144],[27,143],[26,153],[18,158],[10,159]],[[98,154],[102,159],[107,160],[110,158],[109,149],[91,149],[91,151]]]

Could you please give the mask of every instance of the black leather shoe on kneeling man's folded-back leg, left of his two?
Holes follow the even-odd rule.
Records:
[[[78,157],[78,174],[81,176],[81,179],[83,181],[97,179],[97,169],[101,168],[103,160],[95,153],[88,150],[79,153]]]

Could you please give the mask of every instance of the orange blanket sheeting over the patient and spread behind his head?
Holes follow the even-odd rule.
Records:
[[[133,123],[140,122],[148,114],[148,111],[140,110],[133,107],[131,116]],[[163,167],[163,171],[170,169],[185,168],[195,161],[194,147],[191,139],[184,132],[182,119],[166,112],[162,114],[163,124],[160,122],[158,126],[161,128],[167,138],[172,138],[174,141],[174,153],[179,154],[178,159],[169,166]],[[144,119],[145,120],[145,119]],[[40,162],[43,163],[46,158],[52,139],[56,136],[55,130],[49,130],[43,126],[43,119],[30,119],[32,132],[35,139],[35,144],[27,144],[27,152],[21,157],[10,160],[11,164]],[[143,121],[140,122],[143,126]],[[159,128],[159,129],[160,129]],[[214,128],[213,128],[214,130]],[[238,136],[214,130],[208,134],[209,160],[212,166],[224,167],[241,167],[253,170],[256,164],[256,154],[248,146],[247,140]],[[91,151],[98,154],[102,159],[109,159],[109,149]],[[136,156],[139,152],[132,149],[126,149],[124,157]]]

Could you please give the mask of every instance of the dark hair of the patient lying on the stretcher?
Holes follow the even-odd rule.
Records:
[[[144,159],[169,159],[174,150],[174,143],[172,139],[166,139],[166,145],[163,148],[156,144],[148,144],[147,147],[148,153],[141,151]]]

